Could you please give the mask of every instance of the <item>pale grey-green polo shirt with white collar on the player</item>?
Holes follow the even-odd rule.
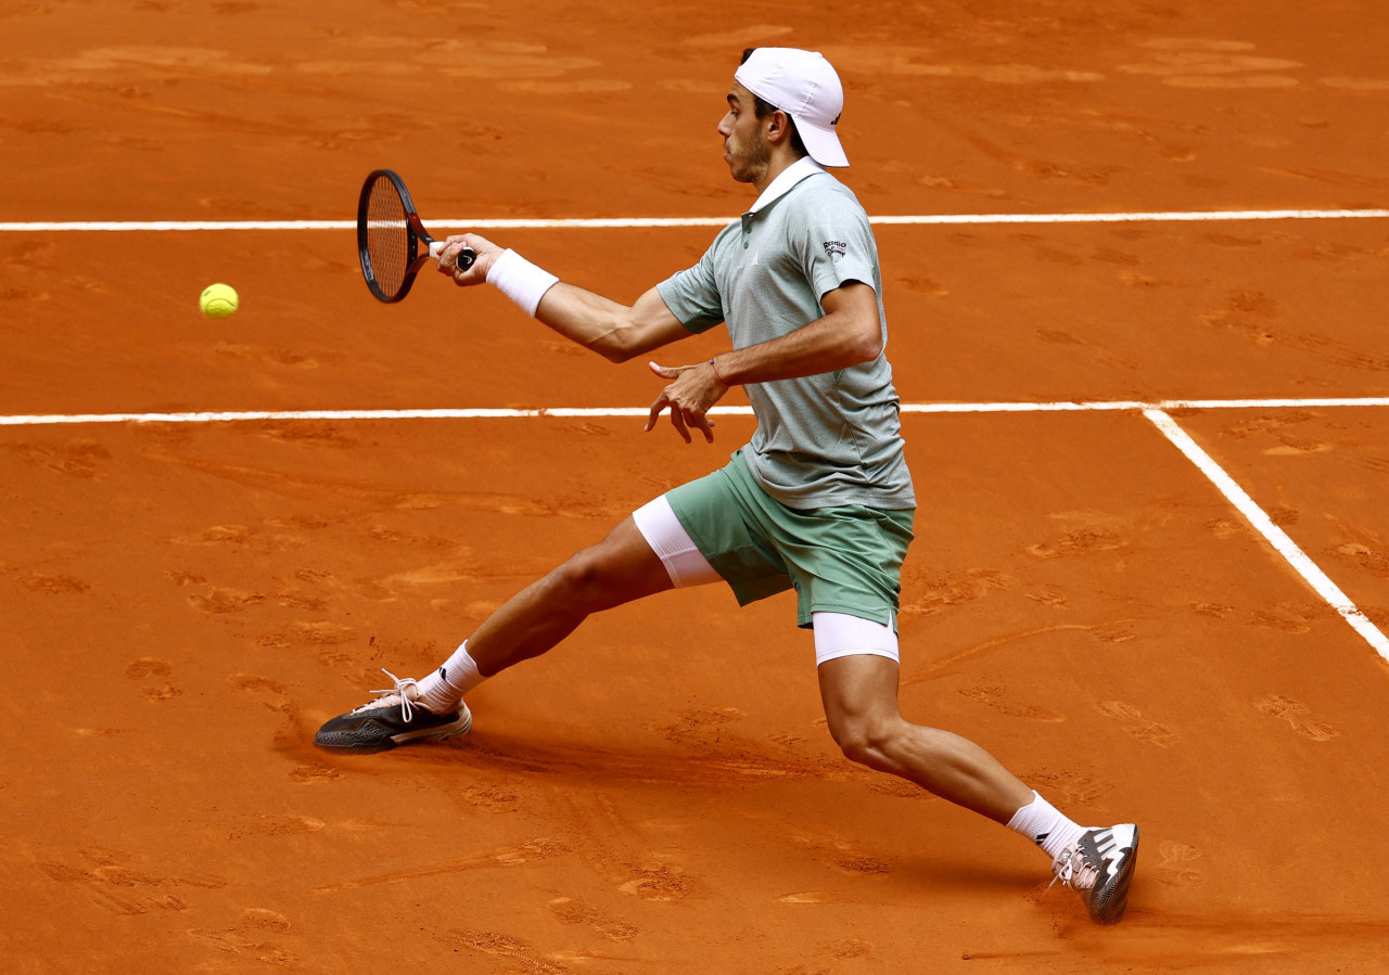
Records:
[[[692,332],[728,325],[746,349],[822,318],[820,299],[857,281],[878,293],[888,319],[868,214],[824,169],[801,160],[792,183],[714,239],[694,267],[657,285]],[[789,508],[917,506],[903,456],[897,390],[883,354],[871,362],[797,379],[746,383],[757,432],[742,451],[754,481]]]

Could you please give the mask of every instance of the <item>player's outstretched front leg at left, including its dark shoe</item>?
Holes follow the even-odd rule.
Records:
[[[628,517],[606,539],[507,600],[454,657],[475,662],[478,678],[493,676],[550,650],[590,614],[672,586],[665,562]],[[381,692],[382,697],[328,721],[314,743],[332,751],[368,753],[465,735],[472,715],[463,690],[444,671],[429,675],[424,685],[396,679],[394,689]],[[421,700],[421,690],[426,700]]]

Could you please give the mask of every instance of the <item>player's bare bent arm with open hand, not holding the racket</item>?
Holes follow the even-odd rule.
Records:
[[[710,443],[714,432],[707,418],[710,407],[722,399],[729,386],[745,382],[775,382],[813,376],[850,365],[870,362],[882,351],[882,321],[878,317],[878,293],[861,281],[847,281],[820,299],[825,314],[795,332],[746,349],[721,353],[699,365],[657,365],[651,371],[672,379],[651,404],[646,429],[656,426],[664,410],[671,424],[690,442],[689,428]]]

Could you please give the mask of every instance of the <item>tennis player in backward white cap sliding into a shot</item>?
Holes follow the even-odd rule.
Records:
[[[724,322],[733,350],[650,368],[668,381],[646,429],[668,414],[686,442],[713,442],[708,410],[740,385],[757,415],[731,462],[654,499],[590,549],[514,596],[428,676],[396,679],[326,722],[336,751],[379,751],[463,735],[464,696],[536,657],[592,612],[676,586],[722,582],[740,604],[795,590],[814,633],[829,733],[850,760],[908,779],[1040,846],[1090,917],[1118,921],[1138,828],[1083,828],[978,744],[897,710],[896,615],[911,542],[911,475],[883,356],[882,274],[868,217],[826,167],[849,160],[835,126],[843,88],[820,54],[745,53],[718,125],[733,179],[758,193],[692,268],[626,307],[561,282],[513,250],[449,238],[440,271],[499,288],[526,314],[615,362]],[[463,246],[476,262],[449,267]],[[1056,881],[1053,881],[1056,882]]]

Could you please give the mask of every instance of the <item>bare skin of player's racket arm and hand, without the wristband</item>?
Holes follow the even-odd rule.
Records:
[[[486,282],[492,265],[506,253],[475,233],[450,236],[449,244],[439,269],[464,288]],[[471,268],[456,272],[450,265],[461,246],[472,247],[478,257]],[[544,292],[535,317],[571,342],[614,362],[625,362],[690,335],[654,288],[628,307],[561,281]]]

